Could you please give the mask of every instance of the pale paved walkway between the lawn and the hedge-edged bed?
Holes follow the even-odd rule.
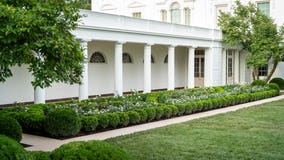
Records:
[[[247,108],[247,107],[251,107],[251,106],[255,106],[255,105],[259,105],[259,104],[263,104],[267,102],[277,101],[281,99],[284,99],[284,95],[269,98],[269,99],[264,99],[260,101],[235,105],[232,107],[226,107],[226,108],[211,110],[207,112],[202,112],[202,113],[197,113],[197,114],[192,114],[192,115],[187,115],[187,116],[182,116],[182,117],[176,117],[176,118],[162,120],[162,121],[156,121],[156,122],[151,122],[151,123],[146,123],[146,124],[141,124],[141,125],[136,125],[136,126],[131,126],[131,127],[120,128],[120,129],[115,129],[111,131],[91,134],[87,136],[71,138],[67,140],[57,140],[57,139],[52,139],[52,138],[23,134],[23,139],[21,143],[32,145],[31,147],[26,148],[27,150],[30,150],[30,151],[32,150],[33,151],[34,150],[52,151],[58,148],[59,146],[61,146],[62,144],[66,144],[66,143],[73,142],[73,141],[104,140],[104,139],[108,139],[112,137],[132,134],[135,132],[141,132],[141,131],[163,127],[163,126],[167,126],[171,124],[182,123],[182,122],[186,122],[186,121],[190,121],[190,120],[194,120],[198,118],[209,117],[209,116],[213,116],[217,114],[232,112],[232,111],[236,111],[242,108]]]

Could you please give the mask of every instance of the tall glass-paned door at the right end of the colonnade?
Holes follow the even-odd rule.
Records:
[[[195,50],[194,57],[194,84],[195,87],[204,86],[204,58],[205,50]]]

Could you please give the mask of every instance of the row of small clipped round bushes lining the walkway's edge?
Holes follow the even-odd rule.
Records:
[[[270,90],[241,95],[230,95],[221,98],[187,102],[177,105],[161,105],[136,109],[128,112],[114,112],[101,115],[86,116],[82,118],[82,129],[84,131],[95,131],[97,129],[124,127],[138,123],[150,122],[154,120],[188,115],[192,113],[208,111],[211,109],[247,103],[273,97],[278,94],[279,92],[277,90]]]

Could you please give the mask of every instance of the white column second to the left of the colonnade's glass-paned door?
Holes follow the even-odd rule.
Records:
[[[168,90],[175,89],[175,46],[168,48]]]

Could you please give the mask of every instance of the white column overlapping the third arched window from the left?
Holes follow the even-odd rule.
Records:
[[[151,92],[151,45],[144,46],[144,93]]]

